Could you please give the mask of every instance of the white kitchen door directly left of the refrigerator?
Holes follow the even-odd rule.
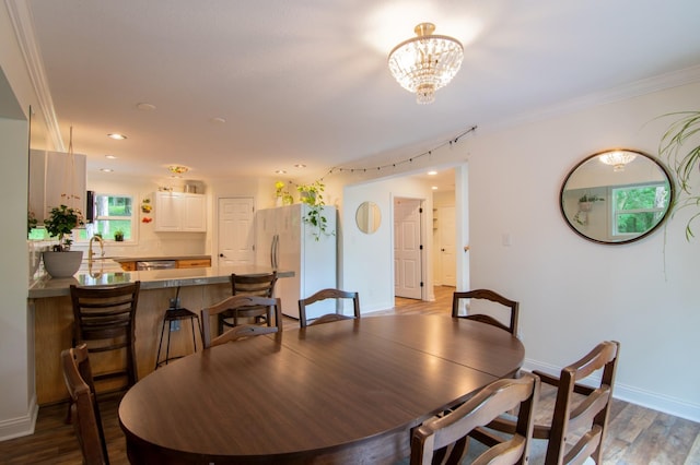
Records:
[[[253,198],[219,199],[219,266],[255,264]]]

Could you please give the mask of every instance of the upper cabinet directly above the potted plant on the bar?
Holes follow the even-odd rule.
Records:
[[[30,151],[30,211],[39,224],[50,208],[67,205],[85,213],[85,155]]]

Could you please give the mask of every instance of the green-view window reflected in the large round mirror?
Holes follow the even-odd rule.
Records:
[[[664,216],[669,201],[664,183],[612,188],[612,236],[648,231]]]

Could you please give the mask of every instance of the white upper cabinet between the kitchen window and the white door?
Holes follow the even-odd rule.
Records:
[[[155,192],[156,233],[206,233],[207,204],[203,194]]]

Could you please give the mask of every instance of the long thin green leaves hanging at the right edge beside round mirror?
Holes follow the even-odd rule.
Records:
[[[660,154],[666,157],[679,189],[672,206],[672,215],[688,206],[700,208],[700,195],[691,190],[692,172],[700,168],[700,111],[679,111],[669,115],[678,118],[664,133]],[[700,217],[693,213],[686,224],[686,239],[695,237],[691,224]]]

